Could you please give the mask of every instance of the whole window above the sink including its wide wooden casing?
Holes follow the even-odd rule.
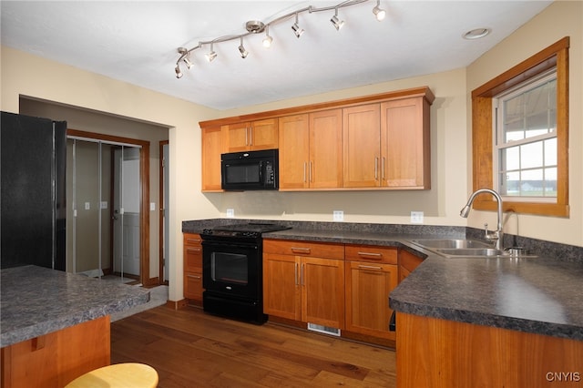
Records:
[[[472,91],[473,186],[497,189],[505,211],[568,217],[568,46],[565,37]],[[474,208],[496,202],[478,197]]]

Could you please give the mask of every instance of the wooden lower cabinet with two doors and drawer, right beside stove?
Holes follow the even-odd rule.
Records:
[[[263,241],[263,311],[344,328],[344,247],[305,241]]]

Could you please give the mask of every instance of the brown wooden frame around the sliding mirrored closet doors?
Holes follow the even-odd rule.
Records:
[[[159,278],[149,278],[149,141],[137,138],[122,138],[118,136],[104,135],[77,129],[66,129],[66,136],[73,138],[89,138],[109,141],[112,143],[125,143],[139,147],[139,281],[144,286],[156,285]]]

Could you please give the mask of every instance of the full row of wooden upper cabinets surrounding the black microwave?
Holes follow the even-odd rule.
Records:
[[[200,122],[202,190],[220,191],[221,153],[271,148],[281,190],[431,189],[434,99],[416,87]]]

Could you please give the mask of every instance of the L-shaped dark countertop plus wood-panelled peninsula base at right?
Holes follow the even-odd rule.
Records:
[[[229,220],[185,221],[182,231],[196,233],[209,222]],[[396,311],[399,387],[578,386],[583,380],[583,248],[506,235],[506,246],[517,239],[537,257],[445,258],[413,240],[479,240],[483,230],[288,224],[291,230],[265,233],[264,240],[385,246],[424,259],[385,295]]]

